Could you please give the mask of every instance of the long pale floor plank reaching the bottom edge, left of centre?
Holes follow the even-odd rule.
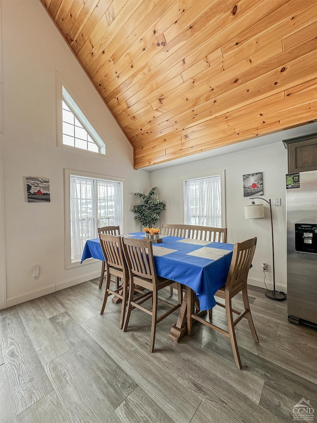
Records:
[[[70,422],[119,422],[71,351],[46,364],[45,369]]]

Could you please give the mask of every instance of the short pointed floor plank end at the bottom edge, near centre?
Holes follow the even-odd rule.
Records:
[[[139,386],[115,410],[120,422],[173,423]]]

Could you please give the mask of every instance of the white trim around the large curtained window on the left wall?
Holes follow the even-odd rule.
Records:
[[[100,262],[100,260],[96,260],[94,258],[89,258],[85,261],[83,261],[82,264],[80,264],[80,261],[71,261],[71,242],[70,242],[70,176],[79,176],[83,178],[92,178],[92,179],[102,179],[105,181],[113,181],[113,182],[121,182],[122,183],[122,221],[123,221],[123,228],[120,231],[124,234],[124,229],[126,228],[126,186],[125,186],[125,179],[124,178],[117,178],[113,176],[108,175],[101,175],[101,174],[95,174],[90,172],[84,172],[84,171],[78,171],[73,169],[64,169],[64,222],[65,222],[65,229],[64,229],[64,258],[65,258],[65,269],[72,269],[74,267],[83,266],[85,264],[91,264],[91,263],[97,263]]]

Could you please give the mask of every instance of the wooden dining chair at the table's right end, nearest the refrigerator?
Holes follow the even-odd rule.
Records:
[[[245,317],[248,319],[250,330],[255,342],[259,342],[256,329],[252,320],[250,311],[249,299],[248,299],[248,287],[247,278],[251,267],[252,259],[256,250],[257,238],[252,238],[243,242],[237,242],[234,244],[232,259],[230,263],[229,273],[225,285],[221,287],[216,293],[215,297],[220,297],[225,300],[225,304],[216,302],[220,307],[225,308],[228,331],[215,326],[214,324],[204,320],[202,317],[194,314],[194,292],[187,288],[187,333],[192,333],[192,322],[193,319],[203,323],[204,325],[215,329],[216,331],[228,336],[230,338],[231,348],[237,367],[241,369],[241,360],[238,350],[235,326],[239,321]],[[232,308],[232,298],[239,292],[242,292],[242,299],[244,310],[238,311]],[[238,314],[238,317],[234,320],[233,314]]]

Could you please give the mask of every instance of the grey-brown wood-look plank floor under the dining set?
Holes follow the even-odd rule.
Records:
[[[98,283],[0,310],[1,423],[291,422],[302,398],[317,412],[317,330],[289,323],[287,302],[249,288],[260,343],[239,322],[239,370],[229,339],[205,326],[171,341],[177,312],[159,323],[151,354],[151,317],[134,310],[122,332],[120,304],[99,314]],[[221,307],[212,318],[225,324]]]

